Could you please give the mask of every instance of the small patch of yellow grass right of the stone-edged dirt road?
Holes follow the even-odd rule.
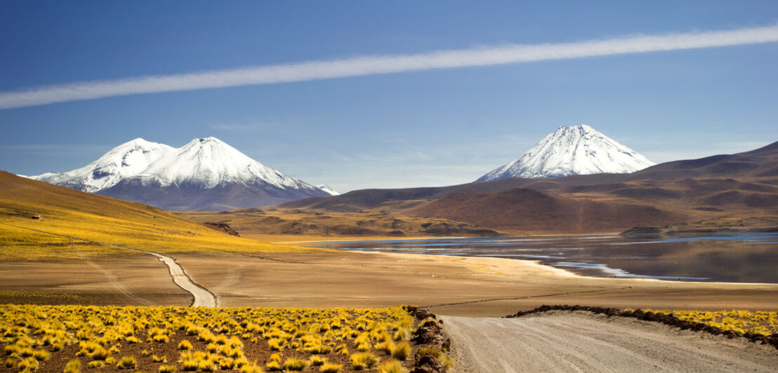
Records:
[[[633,311],[633,309],[626,309]],[[769,336],[778,332],[778,312],[748,310],[732,311],[684,311],[669,309],[643,309],[643,312],[661,312],[673,314],[684,321],[701,322],[724,330],[734,330],[738,333],[751,332]]]

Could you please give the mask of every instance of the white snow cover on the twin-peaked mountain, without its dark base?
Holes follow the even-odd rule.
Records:
[[[159,187],[212,189],[227,183],[267,183],[282,189],[318,190],[212,137],[195,138],[180,148],[136,138],[80,169],[31,177],[93,193],[128,179]]]

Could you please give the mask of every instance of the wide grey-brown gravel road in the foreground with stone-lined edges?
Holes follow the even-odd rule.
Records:
[[[778,350],[657,322],[546,312],[442,317],[457,372],[775,371]]]

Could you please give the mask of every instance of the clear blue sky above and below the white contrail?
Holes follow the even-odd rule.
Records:
[[[0,93],[357,56],[776,26],[778,2],[6,2]],[[654,162],[778,141],[778,43],[0,110],[0,169],[86,165],[132,138],[215,136],[338,191],[467,183],[560,125]]]

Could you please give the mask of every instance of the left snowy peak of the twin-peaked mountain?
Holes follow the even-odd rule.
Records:
[[[102,157],[80,169],[66,173],[44,173],[30,178],[94,193],[142,173],[173,149],[164,144],[135,138],[110,149]]]

